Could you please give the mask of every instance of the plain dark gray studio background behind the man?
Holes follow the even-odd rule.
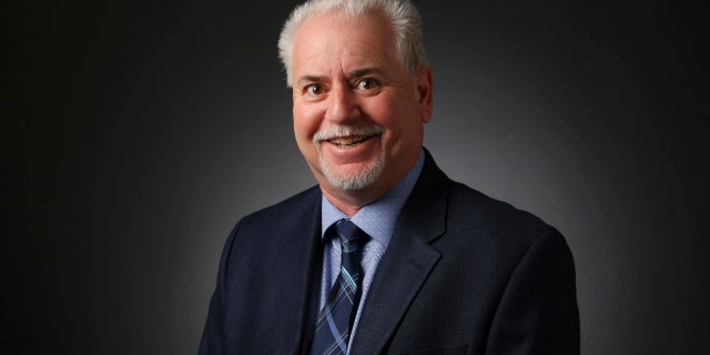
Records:
[[[276,59],[295,2],[98,2],[2,11],[0,352],[194,354],[231,227],[314,183]],[[426,145],[567,236],[582,353],[707,352],[708,11],[417,3]]]

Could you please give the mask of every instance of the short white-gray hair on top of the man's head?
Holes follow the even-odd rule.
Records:
[[[395,33],[395,59],[410,74],[428,65],[422,34],[422,16],[407,0],[311,0],[296,7],[278,38],[278,57],[286,70],[286,84],[293,80],[293,42],[303,22],[314,14],[343,11],[352,18],[381,11]]]

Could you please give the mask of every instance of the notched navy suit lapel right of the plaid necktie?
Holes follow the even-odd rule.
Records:
[[[440,254],[429,245],[446,229],[446,181],[426,152],[426,163],[383,255],[351,349],[379,354]]]

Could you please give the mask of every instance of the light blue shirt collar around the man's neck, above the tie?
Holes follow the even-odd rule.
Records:
[[[409,197],[409,193],[419,179],[419,174],[424,169],[424,151],[419,152],[419,158],[412,170],[397,182],[387,193],[371,204],[363,206],[353,216],[348,216],[338,210],[335,205],[323,195],[321,207],[321,237],[324,237],[325,231],[339,220],[349,220],[374,241],[387,247],[389,240],[395,232],[397,216]]]

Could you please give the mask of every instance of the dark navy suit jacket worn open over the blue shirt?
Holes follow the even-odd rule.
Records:
[[[312,187],[239,222],[220,262],[201,355],[307,351],[321,287],[321,196]],[[579,354],[565,239],[449,180],[426,152],[351,354]]]

